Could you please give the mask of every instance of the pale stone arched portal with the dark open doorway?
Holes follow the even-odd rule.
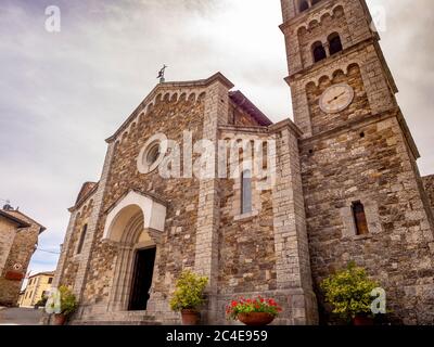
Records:
[[[153,299],[153,279],[158,275],[165,218],[166,207],[161,201],[136,191],[130,191],[108,211],[103,241],[113,243],[118,250],[108,311],[148,311],[152,307],[149,304]],[[143,287],[144,282],[149,286]]]

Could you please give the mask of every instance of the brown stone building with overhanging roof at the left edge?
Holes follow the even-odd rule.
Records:
[[[46,230],[10,205],[0,208],[0,306],[16,306],[30,258]]]

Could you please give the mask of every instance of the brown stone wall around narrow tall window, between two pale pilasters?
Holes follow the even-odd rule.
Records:
[[[220,138],[247,142],[266,141],[269,136],[235,130],[224,131]],[[241,152],[239,158],[232,158],[239,163],[229,163],[240,165],[243,158],[246,159],[247,151]],[[219,294],[241,295],[277,288],[272,195],[270,189],[261,191],[259,184],[258,178],[252,179],[253,211],[242,215],[241,175],[240,178],[220,180]]]

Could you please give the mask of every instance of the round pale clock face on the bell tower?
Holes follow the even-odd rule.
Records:
[[[319,100],[319,106],[322,112],[337,113],[353,102],[354,89],[347,83],[334,85],[326,89]]]

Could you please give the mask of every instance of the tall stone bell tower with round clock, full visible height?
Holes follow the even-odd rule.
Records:
[[[321,319],[319,283],[355,260],[385,288],[395,319],[432,324],[434,285],[421,283],[434,273],[433,213],[367,3],[281,4]]]

